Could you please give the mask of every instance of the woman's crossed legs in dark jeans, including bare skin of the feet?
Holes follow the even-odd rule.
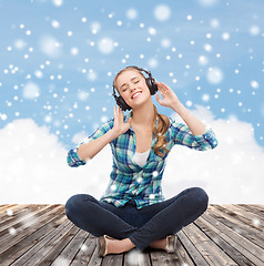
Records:
[[[99,202],[87,194],[69,198],[65,213],[78,227],[92,235],[114,237],[115,239],[106,241],[108,254],[119,254],[135,246],[141,252],[148,246],[165,249],[165,236],[175,234],[202,215],[207,207],[207,195],[202,188],[187,188],[175,197],[145,207],[155,208],[156,213],[140,228],[120,218],[120,209],[114,205]]]

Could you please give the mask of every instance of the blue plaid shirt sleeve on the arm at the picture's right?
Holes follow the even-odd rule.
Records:
[[[187,125],[171,120],[171,130],[174,144],[184,145],[197,151],[213,150],[219,144],[213,130],[209,127],[206,127],[204,134],[193,135]]]

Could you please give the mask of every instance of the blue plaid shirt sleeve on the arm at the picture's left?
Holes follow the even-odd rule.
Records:
[[[83,144],[83,143],[89,143],[89,142],[93,141],[93,140],[97,140],[98,137],[100,137],[103,134],[105,134],[112,127],[113,127],[113,119],[108,121],[106,123],[102,124],[100,127],[98,127],[93,132],[93,134],[91,134],[90,136],[87,136],[78,146],[71,149],[68,152],[68,156],[67,156],[68,165],[71,166],[71,167],[78,167],[80,165],[87,164],[87,162],[81,160],[79,157],[79,155],[78,155],[78,150],[79,150],[80,145]]]

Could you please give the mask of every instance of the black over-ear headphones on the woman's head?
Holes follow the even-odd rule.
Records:
[[[158,86],[156,86],[156,83],[155,83],[155,80],[153,79],[152,74],[150,71],[146,71],[144,69],[141,69],[139,66],[135,66],[135,65],[130,65],[130,66],[126,66],[125,69],[129,69],[129,68],[133,68],[133,69],[136,69],[139,70],[140,72],[144,71],[149,78],[145,78],[145,83],[148,85],[148,88],[150,89],[150,93],[151,95],[154,95],[156,92],[158,92]],[[115,99],[115,102],[116,104],[123,110],[123,111],[130,111],[132,108],[124,101],[124,99],[122,96],[118,96],[115,94],[115,91],[114,91],[114,84],[113,84],[113,96]]]

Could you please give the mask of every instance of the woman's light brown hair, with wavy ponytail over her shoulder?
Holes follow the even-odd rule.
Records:
[[[129,68],[122,69],[114,76],[114,80],[113,80],[113,85],[114,86],[115,86],[116,80],[120,76],[120,74],[122,74],[124,71],[128,71],[128,70],[135,70],[145,79],[143,73],[140,72],[138,69],[135,69],[133,66],[129,66]],[[154,153],[155,154],[158,154],[159,156],[164,156],[165,153],[169,153],[169,150],[165,147],[166,139],[165,139],[164,134],[166,133],[166,131],[169,129],[170,120],[169,120],[169,117],[166,115],[160,114],[158,112],[155,104],[153,104],[153,109],[154,109],[154,117],[153,117],[152,132],[154,133],[154,135],[156,137],[156,143],[155,143],[153,149],[154,149]],[[156,125],[156,119],[158,119],[158,125]]]

